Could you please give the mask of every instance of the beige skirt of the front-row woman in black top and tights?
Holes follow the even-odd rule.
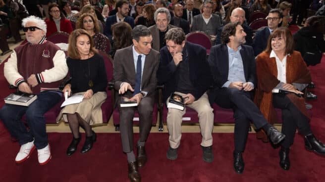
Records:
[[[79,92],[75,94],[84,94],[85,92]],[[84,119],[90,125],[103,123],[103,114],[101,106],[105,102],[107,94],[105,91],[99,91],[95,93],[90,99],[83,99],[82,102],[77,104],[70,104],[64,106],[59,115],[56,118],[56,122],[59,122],[63,117],[67,122],[66,114],[78,113],[82,119]]]

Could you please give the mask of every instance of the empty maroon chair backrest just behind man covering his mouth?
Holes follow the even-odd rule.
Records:
[[[186,41],[204,46],[206,49],[210,49],[212,47],[210,37],[201,31],[191,32],[187,34]]]

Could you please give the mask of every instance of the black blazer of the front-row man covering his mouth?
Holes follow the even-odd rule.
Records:
[[[171,54],[166,46],[160,50],[161,56],[157,71],[158,83],[164,84],[163,100],[168,98],[171,92],[174,92],[178,83],[179,67],[175,66]],[[183,60],[188,59],[190,80],[193,84],[194,91],[191,93],[195,100],[199,99],[211,85],[211,74],[207,57],[206,48],[203,46],[185,43],[183,48]]]

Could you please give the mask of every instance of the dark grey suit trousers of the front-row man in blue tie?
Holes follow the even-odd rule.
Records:
[[[120,99],[117,102],[123,152],[133,151],[133,117],[137,109],[139,113],[140,141],[146,141],[152,124],[154,110],[154,98],[147,96],[141,99],[137,107],[120,107]]]

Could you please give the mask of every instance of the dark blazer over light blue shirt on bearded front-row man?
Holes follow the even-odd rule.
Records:
[[[243,59],[246,82],[252,82],[254,87],[256,87],[257,78],[253,48],[251,46],[241,45],[240,55]],[[229,56],[227,45],[220,44],[211,47],[208,62],[213,78],[212,85],[214,90],[220,90],[222,85],[228,81]],[[209,100],[215,100],[216,96],[216,91],[210,92]]]

